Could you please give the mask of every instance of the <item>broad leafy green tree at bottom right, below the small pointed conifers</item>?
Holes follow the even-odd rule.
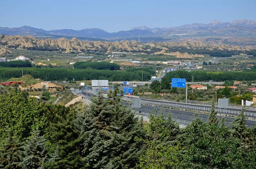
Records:
[[[184,132],[186,146],[182,168],[243,168],[239,141],[232,138],[228,127],[205,123],[197,118]]]

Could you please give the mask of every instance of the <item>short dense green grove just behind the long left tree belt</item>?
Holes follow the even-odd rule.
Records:
[[[120,65],[110,62],[76,62],[76,69],[97,69],[97,70],[120,70]]]

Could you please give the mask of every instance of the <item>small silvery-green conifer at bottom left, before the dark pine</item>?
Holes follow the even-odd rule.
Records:
[[[46,139],[40,135],[40,130],[32,131],[31,137],[23,146],[24,155],[22,166],[26,169],[43,168],[47,161]]]

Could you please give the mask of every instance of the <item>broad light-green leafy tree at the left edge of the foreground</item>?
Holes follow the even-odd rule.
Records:
[[[8,135],[9,128],[17,139],[25,139],[33,129],[46,123],[37,99],[17,90],[0,95],[0,117],[0,138]]]

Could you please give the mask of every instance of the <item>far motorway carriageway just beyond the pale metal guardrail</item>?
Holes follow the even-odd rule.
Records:
[[[180,103],[180,102],[174,102],[174,101],[162,101],[162,100],[152,100],[152,99],[141,99],[144,101],[152,101],[152,102],[161,102],[161,103],[170,103],[170,104],[180,104],[180,105],[189,105],[189,106],[195,106],[195,107],[207,107],[207,108],[211,108],[212,106],[210,105],[201,105],[201,104],[191,104],[191,103]],[[218,109],[218,106],[215,106],[216,109]],[[224,109],[224,108],[222,108]],[[241,109],[239,108],[227,108],[227,110],[233,110],[233,111],[238,111],[241,112]],[[246,110],[246,112],[250,112],[250,113],[256,113],[256,110]]]

